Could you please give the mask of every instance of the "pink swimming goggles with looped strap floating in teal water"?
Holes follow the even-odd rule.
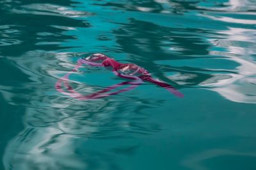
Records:
[[[89,66],[97,66],[97,67],[112,67],[112,71],[116,76],[133,80],[133,81],[125,81],[122,83],[118,83],[116,85],[106,87],[105,89],[100,90],[99,92],[95,92],[93,94],[84,96],[83,94],[76,92],[76,90],[74,90],[68,83],[69,75],[74,72],[77,72],[77,70],[79,69],[79,67],[82,66],[82,64],[86,64]],[[61,92],[62,94],[65,94],[70,97],[74,97],[79,100],[85,100],[85,99],[98,99],[101,97],[111,96],[114,94],[119,94],[121,92],[132,90],[138,87],[138,85],[141,85],[143,81],[149,81],[151,83],[159,85],[160,87],[163,87],[164,89],[168,90],[169,92],[171,92],[177,97],[184,97],[182,93],[175,90],[168,83],[164,83],[163,81],[155,80],[154,78],[152,78],[152,76],[150,76],[148,71],[143,69],[143,67],[137,66],[136,64],[123,64],[101,53],[95,53],[86,58],[77,60],[77,65],[75,66],[75,68],[72,69],[72,71],[70,71],[69,73],[65,74],[65,76],[60,78],[60,80],[57,81],[55,87],[56,87],[56,90],[58,90],[58,92]],[[65,85],[66,91],[62,89],[61,87],[62,83],[63,85]],[[124,89],[118,90],[116,92],[109,92],[118,87],[122,87],[123,85],[130,85],[130,86]]]

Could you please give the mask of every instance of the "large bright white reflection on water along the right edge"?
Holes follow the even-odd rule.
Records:
[[[236,74],[221,74],[222,76],[228,75],[229,78],[217,80],[216,83],[207,80],[207,84],[214,87],[212,90],[219,92],[231,101],[256,103],[255,84],[253,84],[255,81],[256,63],[250,56],[252,53],[255,53],[254,32],[252,29],[230,28],[228,31],[221,32],[221,34],[227,35],[225,39],[215,42],[215,46],[227,50],[227,53],[225,53],[227,59],[237,62],[239,66],[236,67]],[[217,53],[211,51],[211,53],[212,55],[221,55],[218,51]],[[217,76],[220,77],[218,74],[214,75],[215,80]]]

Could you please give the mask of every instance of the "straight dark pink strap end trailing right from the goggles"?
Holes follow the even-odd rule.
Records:
[[[178,90],[176,90],[172,85],[169,85],[168,83],[165,83],[163,81],[155,80],[150,75],[142,75],[140,76],[142,80],[149,81],[151,83],[154,83],[156,85],[159,85],[160,87],[163,87],[164,89],[168,90],[172,94],[174,94],[177,97],[184,97],[184,94],[180,93]]]

